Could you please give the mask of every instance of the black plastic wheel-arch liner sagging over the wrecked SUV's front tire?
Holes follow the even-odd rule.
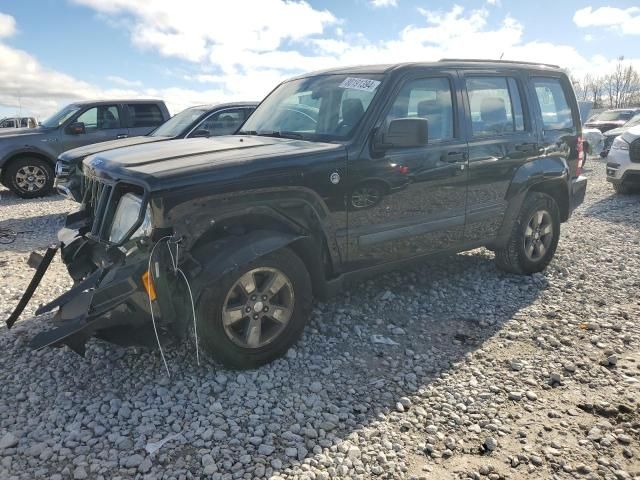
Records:
[[[200,298],[207,284],[303,238],[309,237],[274,230],[253,230],[246,235],[196,247],[190,252],[199,267],[190,279],[194,301]]]

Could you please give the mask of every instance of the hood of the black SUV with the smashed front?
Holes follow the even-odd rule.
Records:
[[[83,163],[97,176],[142,182],[154,191],[184,185],[185,181],[192,185],[236,174],[244,178],[266,170],[273,174],[287,169],[293,156],[299,159],[332,152],[344,155],[345,148],[334,143],[229,135],[119,148],[87,157]]]

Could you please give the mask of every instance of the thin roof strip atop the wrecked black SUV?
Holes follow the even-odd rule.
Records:
[[[318,70],[299,75],[295,78],[306,78],[315,75],[347,75],[347,74],[386,74],[392,71],[408,70],[414,68],[522,68],[526,70],[541,70],[562,72],[558,65],[546,63],[513,61],[513,60],[476,60],[464,58],[443,58],[436,62],[405,62],[380,65],[356,65],[347,67]]]

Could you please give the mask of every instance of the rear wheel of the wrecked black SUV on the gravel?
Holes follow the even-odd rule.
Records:
[[[545,193],[531,193],[513,222],[506,246],[496,249],[496,264],[509,273],[540,272],[553,259],[559,239],[558,204]]]

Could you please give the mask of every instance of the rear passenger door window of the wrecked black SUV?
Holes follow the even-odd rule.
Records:
[[[474,137],[525,130],[522,101],[514,78],[470,76],[466,85]]]

